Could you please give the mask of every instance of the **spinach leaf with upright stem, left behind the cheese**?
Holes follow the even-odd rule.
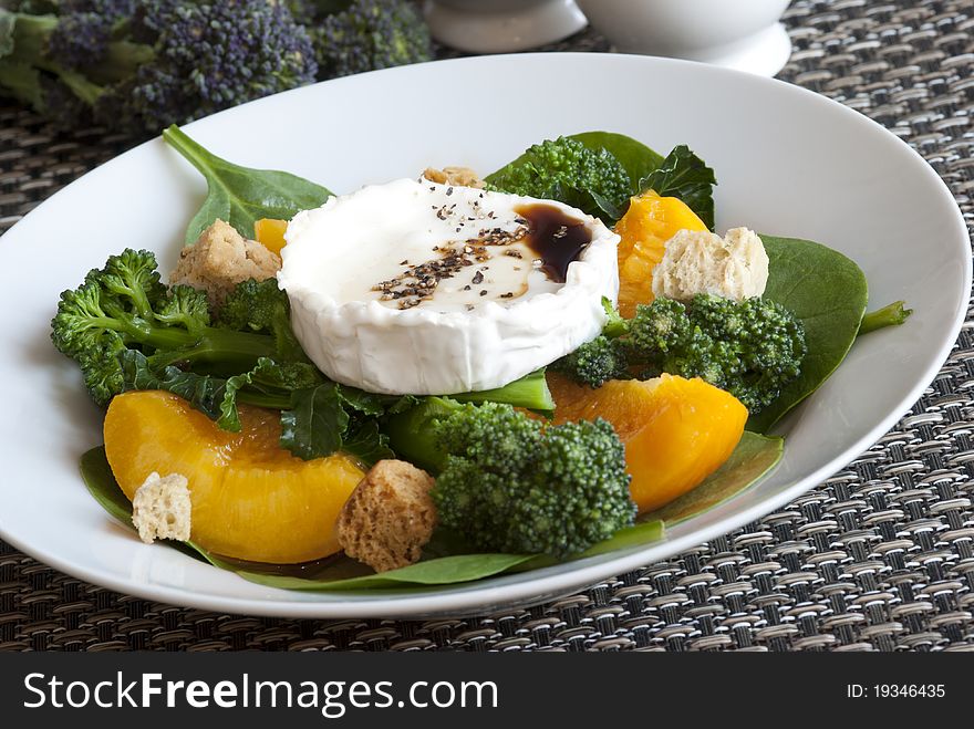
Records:
[[[332,192],[297,175],[240,167],[207,152],[175,124],[163,138],[206,178],[207,196],[186,230],[186,244],[219,218],[241,236],[253,237],[253,223],[260,218],[290,219],[300,210],[317,208]]]

